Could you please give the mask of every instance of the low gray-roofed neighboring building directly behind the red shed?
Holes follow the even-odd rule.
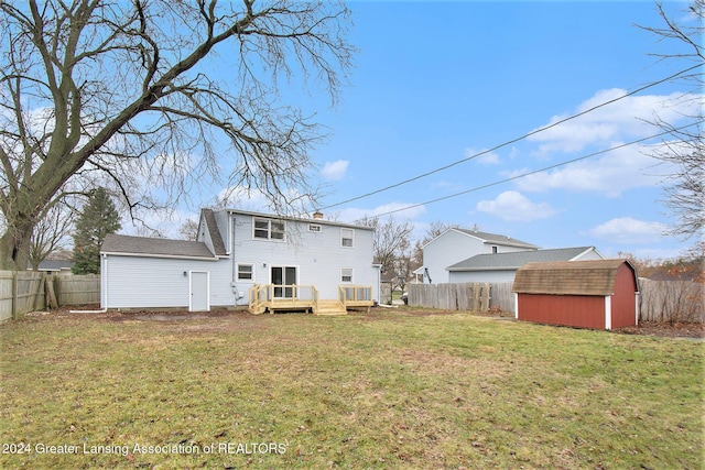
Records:
[[[477,254],[448,266],[448,282],[513,282],[517,271],[527,263],[604,259],[605,256],[595,247]]]

